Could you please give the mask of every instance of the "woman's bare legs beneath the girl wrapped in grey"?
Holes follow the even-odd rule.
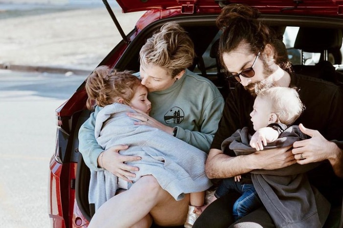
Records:
[[[189,194],[176,201],[157,180],[143,176],[129,190],[104,203],[94,214],[88,228],[127,228],[136,225],[149,212],[160,226],[179,226],[186,219]]]

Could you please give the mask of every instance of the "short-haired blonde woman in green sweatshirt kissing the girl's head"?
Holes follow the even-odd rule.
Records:
[[[150,116],[137,110],[137,113],[128,115],[137,119],[137,125],[159,128],[208,152],[224,99],[213,83],[187,69],[194,57],[193,42],[183,28],[175,22],[165,23],[140,51],[139,74],[152,103]],[[118,153],[128,149],[129,145],[116,145],[104,150],[97,144],[94,120],[100,110],[96,107],[90,119],[80,128],[79,150],[91,170],[102,170],[102,167],[131,182],[130,178],[135,177],[133,172],[138,168],[126,163],[140,160],[140,157]],[[114,224],[123,228],[148,228],[153,222],[159,226],[180,226],[186,221],[187,211],[192,212],[192,208],[188,208],[189,202],[189,194],[177,201],[160,187],[154,176],[146,175],[137,180],[130,191],[114,196],[99,207],[89,228],[107,228]],[[186,226],[191,226],[193,222],[193,218],[188,219]]]

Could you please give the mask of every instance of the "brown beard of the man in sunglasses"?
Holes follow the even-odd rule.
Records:
[[[261,81],[250,83],[247,86],[244,86],[244,88],[247,91],[249,91],[249,93],[253,97],[256,97],[256,94],[259,91],[275,86],[275,81],[274,81],[273,77],[270,77],[274,73],[273,70],[268,66],[267,62],[264,59],[262,59],[262,62],[263,62],[264,78]]]

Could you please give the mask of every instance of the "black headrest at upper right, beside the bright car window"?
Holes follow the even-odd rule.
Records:
[[[300,27],[294,47],[305,52],[322,52],[342,46],[342,29]]]

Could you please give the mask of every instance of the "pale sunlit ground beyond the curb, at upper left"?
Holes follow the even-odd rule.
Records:
[[[123,14],[109,2],[124,32],[131,31],[143,12]],[[0,69],[20,71],[85,74],[121,40],[101,3],[0,3],[0,31]]]

